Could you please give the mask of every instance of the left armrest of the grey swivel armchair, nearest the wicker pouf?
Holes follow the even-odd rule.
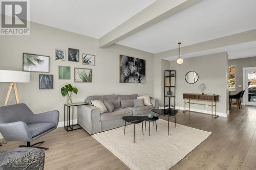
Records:
[[[32,135],[24,122],[0,124],[0,132],[7,141],[32,141]]]

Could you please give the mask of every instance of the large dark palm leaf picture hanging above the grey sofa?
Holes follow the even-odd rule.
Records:
[[[120,55],[120,82],[145,83],[145,60]]]

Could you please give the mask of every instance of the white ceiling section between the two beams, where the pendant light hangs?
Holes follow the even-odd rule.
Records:
[[[203,0],[118,44],[159,53],[256,29],[255,0]],[[255,46],[256,47],[256,46]]]

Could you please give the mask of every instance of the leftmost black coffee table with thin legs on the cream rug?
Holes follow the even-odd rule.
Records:
[[[124,135],[125,135],[125,127],[126,127],[126,122],[133,124],[133,142],[135,143],[135,124],[142,124],[142,135],[144,135],[143,132],[143,122],[145,121],[144,116],[123,116],[122,117],[124,120]]]

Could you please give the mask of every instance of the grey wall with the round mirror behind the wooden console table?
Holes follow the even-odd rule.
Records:
[[[227,54],[218,53],[207,56],[184,59],[183,64],[178,65],[176,60],[170,61],[170,69],[177,71],[176,105],[184,107],[183,93],[201,93],[198,86],[206,85],[204,93],[219,94],[217,112],[227,113]],[[199,79],[195,84],[188,84],[185,75],[188,71],[196,71]],[[191,105],[191,108],[210,110],[210,107]]]

